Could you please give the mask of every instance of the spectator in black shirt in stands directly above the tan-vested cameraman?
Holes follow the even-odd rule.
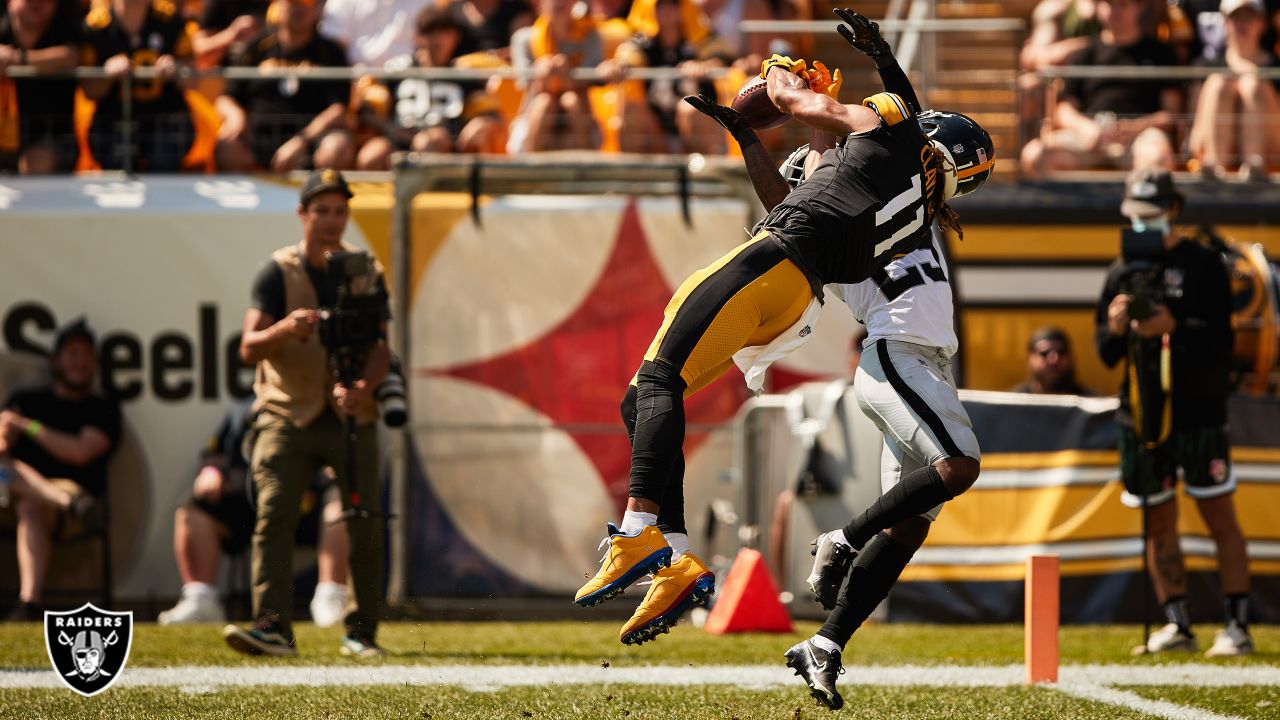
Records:
[[[236,67],[311,65],[344,68],[340,45],[320,35],[320,5],[314,0],[280,0],[279,24],[250,42],[232,61]],[[223,123],[218,165],[224,170],[257,168],[275,172],[308,167],[351,168],[356,147],[347,129],[347,81],[262,78],[236,81],[218,97]]]

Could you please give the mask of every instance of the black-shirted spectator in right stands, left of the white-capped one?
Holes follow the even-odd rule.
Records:
[[[1069,64],[1079,67],[1176,64],[1172,49],[1144,35],[1139,0],[1100,0],[1102,31]],[[1053,108],[1052,127],[1023,147],[1028,176],[1091,167],[1125,167],[1142,131],[1174,129],[1181,91],[1170,79],[1073,78]]]

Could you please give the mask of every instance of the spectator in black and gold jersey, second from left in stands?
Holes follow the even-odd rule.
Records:
[[[97,102],[88,140],[99,165],[120,169],[129,159],[138,172],[183,169],[196,127],[174,76],[191,59],[191,31],[172,3],[110,0],[90,8],[82,61],[108,74],[83,82],[84,95]],[[159,77],[133,81],[133,119],[125,128],[122,78],[138,67],[151,67]]]

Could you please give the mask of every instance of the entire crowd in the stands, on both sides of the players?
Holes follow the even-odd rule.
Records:
[[[814,50],[813,33],[744,33],[741,20],[826,18],[831,5],[5,0],[0,172],[379,170],[401,150],[731,152],[724,133],[680,99],[713,92],[727,102],[762,58]],[[1280,168],[1280,79],[1254,73],[1277,67],[1280,0],[1030,5],[1007,9],[1029,14],[1018,113],[1024,177],[1128,168],[1144,131],[1167,142],[1164,164],[1206,178],[1257,181]],[[99,67],[105,78],[31,77],[78,65]],[[1152,74],[1047,81],[1042,73],[1119,65],[1148,65]],[[224,81],[178,72],[184,67],[398,76]],[[1169,67],[1210,70],[1185,79],[1161,74]],[[134,68],[154,76],[127,77]],[[415,77],[415,68],[435,72]],[[673,72],[652,79],[636,68]]]

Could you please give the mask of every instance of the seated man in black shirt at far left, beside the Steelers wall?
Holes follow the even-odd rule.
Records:
[[[0,411],[0,462],[10,475],[17,523],[18,606],[12,620],[40,620],[58,539],[101,523],[106,464],[120,442],[120,406],[93,392],[97,351],[83,319],[54,340],[50,387],[18,391]]]

